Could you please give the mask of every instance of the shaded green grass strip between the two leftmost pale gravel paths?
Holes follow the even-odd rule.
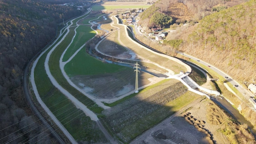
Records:
[[[71,30],[72,29],[74,30],[74,28],[71,28]],[[65,39],[65,43],[63,43],[64,46],[71,41],[72,36],[74,36],[74,31],[71,31],[68,34],[67,38]],[[59,42],[59,40],[57,42]],[[56,48],[57,51],[59,47]],[[52,47],[50,49],[52,49]],[[74,106],[74,104],[72,104],[72,102],[70,102],[65,97],[65,95],[63,95],[63,93],[61,93],[58,89],[56,89],[56,87],[51,84],[50,79],[46,74],[46,71],[42,69],[44,68],[44,60],[46,59],[46,55],[50,51],[50,49],[42,55],[35,68],[35,83],[37,85],[37,89],[39,95],[41,96],[41,99],[78,142],[106,141],[103,133],[100,131],[100,129],[97,128],[96,123],[94,121],[91,121],[90,117],[86,116],[84,112],[82,112],[82,110],[77,109],[76,106]],[[52,61],[59,61],[59,59],[51,59],[49,64],[52,64]],[[55,68],[59,68],[59,62],[56,65],[52,66]],[[76,94],[78,94],[78,92],[76,92]],[[85,99],[82,97],[78,98],[78,100],[80,100],[81,102],[85,101]],[[93,103],[91,102],[90,104],[93,105]],[[91,106],[88,107],[90,108]]]

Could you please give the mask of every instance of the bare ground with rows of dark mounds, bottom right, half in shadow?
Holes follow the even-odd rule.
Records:
[[[255,143],[251,134],[207,98],[198,99],[131,144]],[[246,134],[241,134],[242,131]]]

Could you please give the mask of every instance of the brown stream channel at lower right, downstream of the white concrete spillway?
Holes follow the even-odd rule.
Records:
[[[241,124],[247,124],[248,128],[252,132],[254,138],[256,138],[256,130],[253,129],[252,123],[247,121],[242,114],[239,113],[224,97],[216,97],[216,100],[213,100],[216,104],[221,106],[224,110],[226,110],[237,122]]]

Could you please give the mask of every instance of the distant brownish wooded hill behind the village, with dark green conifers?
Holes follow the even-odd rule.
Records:
[[[143,27],[149,28],[169,28],[173,23],[180,24],[186,23],[187,21],[197,23],[206,15],[221,11],[244,1],[245,0],[158,0],[140,15],[140,24]],[[155,13],[172,17],[173,21],[162,25],[152,23],[152,21],[158,21],[158,19],[163,21],[163,17],[152,17]]]

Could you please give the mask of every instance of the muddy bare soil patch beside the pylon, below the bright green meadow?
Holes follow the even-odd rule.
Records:
[[[151,83],[151,74],[139,73],[139,87]],[[135,72],[132,68],[113,74],[78,75],[71,78],[85,92],[100,98],[113,99],[135,90]]]

